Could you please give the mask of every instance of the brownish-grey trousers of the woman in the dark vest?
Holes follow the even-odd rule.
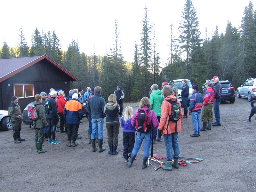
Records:
[[[106,122],[107,134],[108,134],[108,146],[118,145],[118,134],[119,134],[120,122]]]

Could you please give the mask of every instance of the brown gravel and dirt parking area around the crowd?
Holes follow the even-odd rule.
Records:
[[[129,105],[135,109],[138,103]],[[124,106],[125,108],[125,106]],[[246,98],[220,105],[221,126],[193,133],[191,116],[182,122],[179,133],[180,156],[204,161],[170,172],[151,166],[141,168],[143,146],[128,168],[123,158],[122,128],[119,154],[92,152],[88,144],[88,121],[80,125],[82,139],[75,148],[66,146],[67,135],[57,133],[59,145],[44,142],[47,153],[34,147],[34,130],[22,125],[21,144],[14,144],[12,131],[0,132],[0,191],[256,191],[256,121],[248,122],[250,103]],[[164,142],[154,144],[154,153],[165,156]],[[165,161],[165,160],[163,160]]]

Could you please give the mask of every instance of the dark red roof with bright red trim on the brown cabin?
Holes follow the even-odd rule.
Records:
[[[55,61],[47,57],[46,55],[35,56],[35,57],[20,57],[14,59],[1,59],[0,60],[0,82],[10,78],[11,76],[19,73],[20,71],[34,65],[40,60],[47,59],[61,71],[70,76],[74,81],[78,81],[78,79],[71,75],[67,70],[60,67]]]

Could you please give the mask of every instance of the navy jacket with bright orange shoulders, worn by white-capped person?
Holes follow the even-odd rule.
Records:
[[[63,109],[63,115],[67,124],[79,124],[83,118],[83,109],[81,103],[75,98],[68,101]]]

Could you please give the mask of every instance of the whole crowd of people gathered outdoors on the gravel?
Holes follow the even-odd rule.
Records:
[[[78,134],[79,125],[83,123],[81,120],[84,117],[83,107],[86,106],[86,116],[88,119],[88,143],[92,144],[92,152],[106,150],[103,147],[103,128],[106,117],[106,129],[108,136],[108,154],[116,155],[119,153],[118,135],[120,122],[123,128],[123,156],[128,167],[132,166],[136,159],[137,153],[144,140],[144,152],[142,160],[142,168],[147,167],[150,144],[162,142],[166,149],[166,165],[163,165],[164,170],[171,171],[172,166],[179,168],[179,144],[178,133],[181,131],[183,118],[187,118],[187,114],[191,115],[193,124],[193,133],[191,137],[199,137],[201,131],[211,130],[211,126],[221,126],[219,104],[221,101],[221,84],[219,78],[214,76],[212,79],[206,80],[204,83],[205,90],[203,96],[198,92],[198,85],[192,86],[192,96],[188,104],[188,85],[186,79],[182,80],[183,88],[181,90],[181,102],[177,99],[178,89],[173,81],[170,83],[164,82],[160,91],[157,84],[151,86],[148,97],[143,97],[140,100],[140,109],[134,113],[131,107],[126,107],[123,116],[123,99],[124,91],[119,86],[113,94],[109,95],[108,103],[101,97],[101,87],[96,86],[92,89],[87,87],[87,92],[82,89],[73,89],[69,91],[68,97],[65,99],[65,93],[50,89],[49,95],[46,92],[36,94],[33,105],[36,108],[39,118],[31,123],[35,131],[35,147],[36,152],[45,153],[42,148],[44,138],[51,145],[60,144],[56,140],[56,127],[59,124],[60,133],[67,133],[67,146],[76,147],[77,139],[82,137]],[[84,94],[83,94],[84,93]],[[8,108],[8,113],[12,117],[13,127],[12,134],[14,143],[20,143],[25,139],[20,138],[22,114],[18,105],[18,97],[13,96],[12,102]],[[178,106],[176,112],[178,117],[175,121],[171,121],[174,105]],[[183,106],[184,112],[181,107]],[[212,123],[212,109],[215,115],[216,122]],[[147,128],[148,131],[135,131],[135,126],[138,126],[138,115],[141,110],[147,111]],[[145,115],[145,114],[142,114]],[[140,116],[142,116],[140,114]],[[121,120],[119,119],[121,116]],[[201,128],[201,120],[203,127]],[[146,121],[146,120],[145,120]],[[64,131],[65,127],[65,131]],[[98,148],[96,147],[98,143]],[[130,158],[130,161],[129,161]],[[172,161],[173,159],[173,161]]]

